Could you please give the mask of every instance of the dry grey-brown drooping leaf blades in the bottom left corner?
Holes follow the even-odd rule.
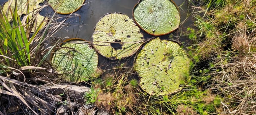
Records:
[[[33,94],[35,93],[37,95],[45,97],[42,92],[39,92],[38,86],[31,85],[25,82],[20,82],[3,76],[0,76],[0,83],[1,86],[3,86],[2,88],[0,88],[1,100],[9,99],[10,96],[16,97],[20,100],[20,103],[17,103],[16,100],[9,100],[8,103],[1,103],[2,106],[7,106],[8,104],[12,103],[16,103],[19,106],[22,106],[24,104],[36,115],[38,115],[38,113],[34,111],[34,109],[32,108],[33,106],[35,106],[42,112],[45,112],[45,108],[42,107],[46,107],[49,109],[50,105],[47,102]],[[11,107],[11,105],[9,105],[9,107]]]

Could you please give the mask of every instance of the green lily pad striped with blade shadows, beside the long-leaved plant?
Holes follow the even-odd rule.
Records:
[[[88,81],[97,70],[98,55],[85,40],[72,38],[61,45],[52,56],[51,63],[71,82]]]

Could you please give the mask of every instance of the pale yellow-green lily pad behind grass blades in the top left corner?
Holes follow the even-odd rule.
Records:
[[[29,4],[27,5],[27,0],[16,0],[17,1],[17,13],[19,16],[21,16],[22,14],[26,14],[27,11],[27,6],[29,7],[28,9],[28,18],[32,19],[33,16],[35,15],[35,12],[38,12],[39,8],[41,8],[41,6],[39,5],[39,3],[43,3],[43,0],[30,0]],[[9,0],[7,1],[4,6],[3,6],[3,11],[6,13],[7,12],[7,19],[9,21],[12,20],[12,13],[9,9],[9,7],[11,8],[12,12],[14,11],[14,7],[15,7],[15,0]],[[32,13],[34,12],[34,13]],[[35,16],[34,16],[35,17]],[[42,28],[43,26],[45,26],[47,24],[46,20],[47,18],[44,19],[44,16],[40,15],[39,13],[36,16],[36,25],[34,25],[33,29],[31,32],[34,32],[37,28]],[[40,26],[40,24],[43,23],[42,26]],[[26,24],[25,21],[22,22],[22,24]]]

